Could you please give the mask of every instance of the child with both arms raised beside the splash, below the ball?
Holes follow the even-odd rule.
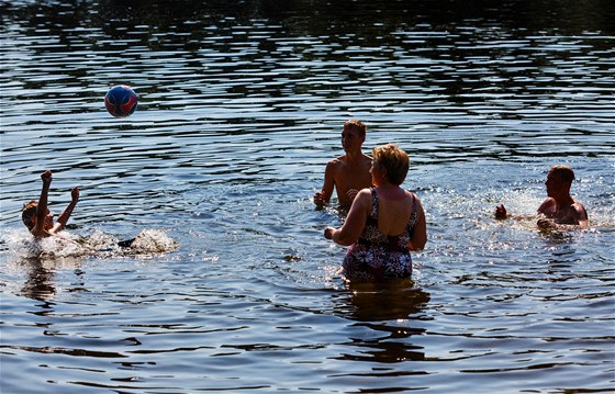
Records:
[[[41,179],[43,180],[41,198],[38,202],[33,200],[23,206],[21,219],[33,236],[49,237],[52,235],[57,235],[66,226],[66,222],[68,222],[75,205],[77,205],[79,201],[79,188],[72,188],[70,191],[72,201],[54,224],[54,215],[49,212],[47,204],[47,194],[49,193],[49,187],[53,180],[52,171],[47,170],[43,172]]]

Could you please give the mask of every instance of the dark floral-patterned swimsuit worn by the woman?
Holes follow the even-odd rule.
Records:
[[[348,248],[344,258],[346,278],[378,280],[409,278],[412,274],[409,243],[418,218],[414,194],[412,201],[412,214],[405,230],[400,235],[384,235],[378,228],[378,194],[371,188],[371,213],[361,236]]]

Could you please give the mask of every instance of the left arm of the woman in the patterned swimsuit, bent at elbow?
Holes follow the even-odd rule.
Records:
[[[344,225],[337,229],[325,228],[325,238],[333,239],[336,244],[344,246],[353,245],[361,236],[370,210],[371,191],[364,189],[353,201],[353,206],[350,206],[350,212],[348,212]]]

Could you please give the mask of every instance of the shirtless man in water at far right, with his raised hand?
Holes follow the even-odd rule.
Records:
[[[570,195],[574,171],[568,166],[554,166],[547,175],[547,199],[538,207],[538,213],[546,216],[537,222],[540,228],[572,229],[588,228],[588,212],[580,201]],[[495,209],[496,218],[506,218],[504,205]]]

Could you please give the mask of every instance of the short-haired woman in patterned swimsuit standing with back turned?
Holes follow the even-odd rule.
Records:
[[[369,171],[374,187],[357,194],[340,228],[325,228],[325,238],[350,246],[343,264],[346,278],[412,274],[410,252],[425,247],[427,230],[421,201],[400,188],[407,170],[407,154],[394,144],[373,148]]]

